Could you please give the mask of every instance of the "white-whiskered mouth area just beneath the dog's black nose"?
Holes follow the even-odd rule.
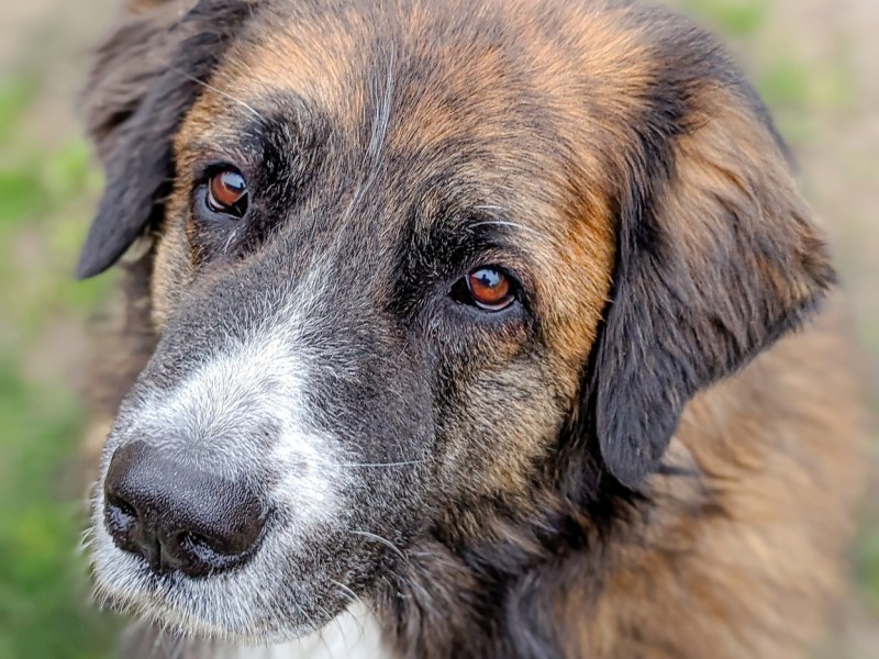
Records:
[[[142,550],[120,547],[107,525],[103,507],[103,498],[97,498],[87,538],[93,596],[101,606],[133,614],[181,636],[264,644],[302,637],[352,602],[348,593],[353,591],[343,581],[335,582],[334,592],[327,588],[326,574],[308,574],[296,570],[298,561],[283,561],[285,551],[272,537],[278,530],[271,521],[245,561],[199,547],[193,539],[193,546],[186,550],[197,563],[227,561],[234,566],[202,573],[174,562],[176,559],[156,559]],[[297,571],[300,573],[293,577]]]

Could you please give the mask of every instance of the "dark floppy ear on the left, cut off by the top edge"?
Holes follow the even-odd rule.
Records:
[[[174,134],[254,4],[134,0],[99,49],[85,111],[107,183],[78,277],[109,268],[162,215]]]

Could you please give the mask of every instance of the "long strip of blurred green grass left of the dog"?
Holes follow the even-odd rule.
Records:
[[[34,81],[0,81],[0,659],[85,659],[107,655],[113,625],[74,551],[84,411],[33,362],[63,349],[47,337],[59,325],[85,326],[110,281],[70,277],[100,177],[81,139],[48,150],[19,130],[36,96]]]

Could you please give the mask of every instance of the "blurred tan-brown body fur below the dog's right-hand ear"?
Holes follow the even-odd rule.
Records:
[[[863,477],[858,392],[836,369],[849,357],[834,310],[693,400],[677,438],[703,477],[655,479],[658,518],[646,547],[620,550],[586,656],[782,658],[814,644]]]

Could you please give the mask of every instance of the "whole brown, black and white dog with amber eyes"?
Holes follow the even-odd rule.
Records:
[[[852,342],[713,36],[624,0],[134,0],[85,110],[125,656],[819,643]]]

